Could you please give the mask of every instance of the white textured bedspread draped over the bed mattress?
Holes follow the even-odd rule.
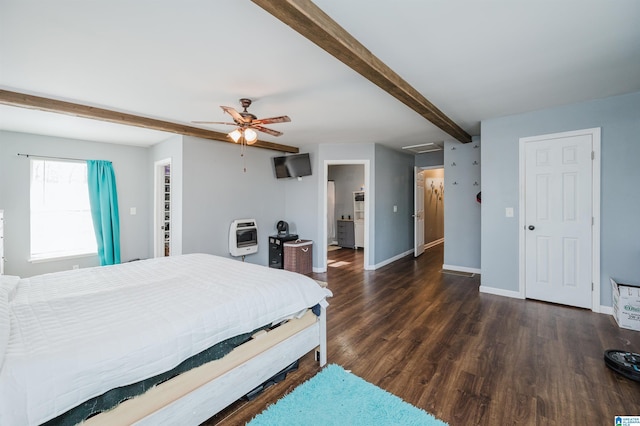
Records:
[[[5,293],[0,425],[40,424],[331,294],[300,274],[205,254],[24,278]]]

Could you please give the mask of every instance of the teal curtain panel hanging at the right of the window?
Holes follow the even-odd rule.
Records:
[[[100,265],[120,263],[120,217],[111,161],[87,160],[87,183]]]

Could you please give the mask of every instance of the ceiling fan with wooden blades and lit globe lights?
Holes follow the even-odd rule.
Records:
[[[286,115],[270,118],[256,117],[254,114],[247,111],[247,108],[251,105],[251,99],[248,98],[240,99],[240,105],[244,108],[244,111],[242,112],[238,112],[232,107],[220,106],[224,112],[233,118],[233,123],[224,121],[193,121],[193,123],[227,124],[230,126],[237,126],[235,130],[229,133],[229,137],[231,137],[231,139],[236,143],[240,141],[241,143],[246,142],[248,145],[253,145],[258,140],[258,134],[255,132],[256,130],[267,133],[271,136],[280,136],[283,134],[277,130],[264,127],[263,124],[288,123],[291,121],[291,119]]]

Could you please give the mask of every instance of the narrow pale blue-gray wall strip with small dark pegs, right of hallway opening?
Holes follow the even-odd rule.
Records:
[[[480,269],[480,141],[444,144],[444,264]]]

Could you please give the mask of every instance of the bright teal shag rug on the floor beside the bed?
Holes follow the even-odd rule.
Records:
[[[329,364],[248,425],[446,426],[446,423],[342,367]]]

